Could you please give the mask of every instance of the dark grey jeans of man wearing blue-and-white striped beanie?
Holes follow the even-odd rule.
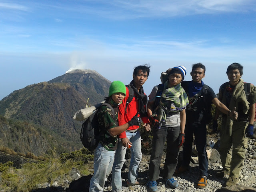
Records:
[[[180,126],[154,128],[152,140],[152,153],[149,162],[149,180],[156,181],[160,174],[160,163],[167,140],[166,159],[164,162],[164,178],[172,178],[178,164],[180,148],[177,138],[180,135]]]

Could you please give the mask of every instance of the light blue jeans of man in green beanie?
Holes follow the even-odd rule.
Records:
[[[98,144],[94,150],[94,174],[90,181],[89,192],[103,191],[105,178],[111,173],[114,157],[115,151],[108,151],[102,144]]]

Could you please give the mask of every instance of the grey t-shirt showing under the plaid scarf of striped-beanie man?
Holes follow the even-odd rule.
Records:
[[[150,95],[148,96],[149,102],[154,102],[156,100],[156,93],[158,91],[158,85],[154,86]],[[177,127],[180,126],[180,112],[174,112],[166,114],[166,122],[162,122],[164,127]]]

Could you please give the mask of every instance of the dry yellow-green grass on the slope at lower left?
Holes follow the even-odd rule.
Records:
[[[82,170],[81,174],[85,175],[90,174],[90,168],[93,167],[92,161],[82,166],[78,166],[77,162],[72,160],[61,163],[55,151],[52,152],[51,156],[45,157],[45,159],[47,160],[42,163],[26,163],[20,169],[11,167],[2,172],[2,187],[4,191],[31,191],[37,188],[37,184],[47,182],[52,185],[57,178],[72,180],[72,178],[69,178],[68,172],[73,167],[79,168],[79,170]]]

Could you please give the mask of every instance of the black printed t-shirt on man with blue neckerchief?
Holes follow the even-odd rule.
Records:
[[[212,118],[211,107],[212,100],[216,98],[216,94],[206,84],[202,87],[200,92],[192,97],[189,97],[189,81],[183,81],[182,87],[188,95],[189,104],[186,107],[186,124],[191,123],[205,123],[208,124]]]

